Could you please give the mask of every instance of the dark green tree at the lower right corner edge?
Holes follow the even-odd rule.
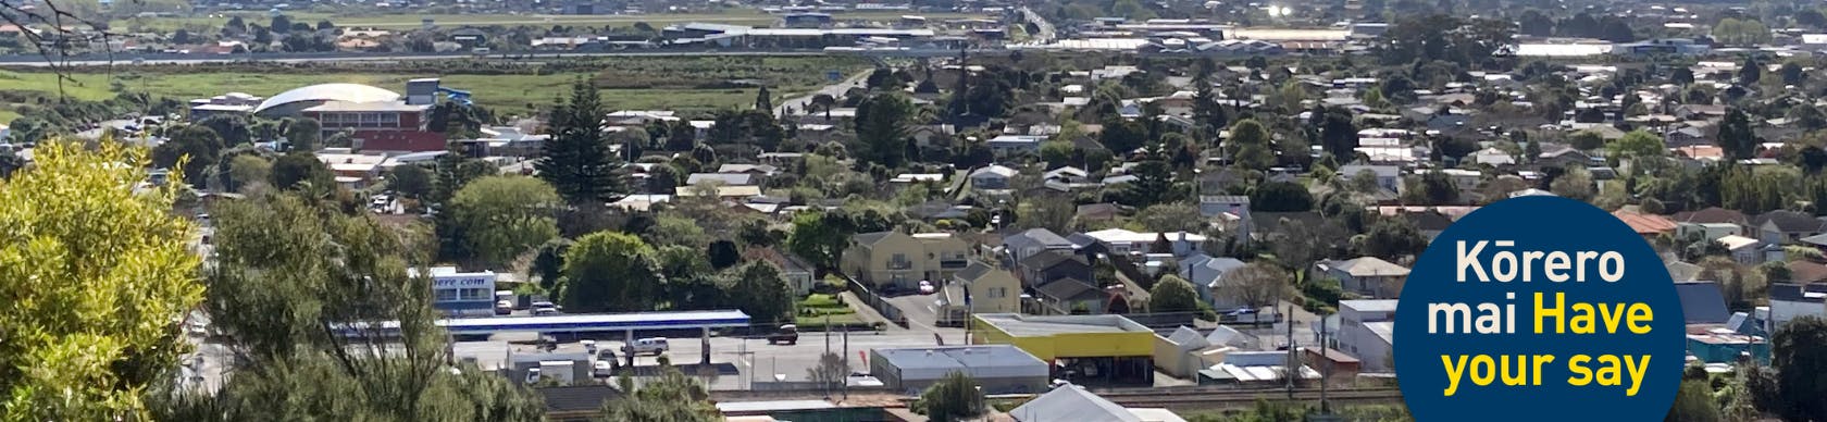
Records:
[[[1776,329],[1770,365],[1778,371],[1783,420],[1827,420],[1827,318],[1801,316]]]

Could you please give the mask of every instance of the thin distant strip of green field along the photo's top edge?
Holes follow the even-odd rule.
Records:
[[[897,11],[868,11],[868,13],[835,13],[837,20],[871,20],[871,22],[893,22],[903,15],[921,15],[934,20],[946,18],[985,18],[985,15],[972,13],[897,13]],[[219,29],[228,22],[228,16],[241,16],[243,22],[265,26],[270,16],[267,13],[232,13],[232,15],[214,15],[214,16],[186,16],[186,18],[124,18],[113,20],[110,26],[126,29],[148,29],[148,31],[175,31],[177,27],[192,29]],[[422,18],[431,18],[437,26],[612,26],[628,27],[636,22],[647,22],[652,27],[663,27],[671,24],[683,22],[713,22],[713,24],[733,24],[733,26],[771,26],[780,18],[775,15],[762,13],[758,9],[725,9],[716,13],[658,13],[658,15],[331,15],[331,13],[287,13],[292,22],[312,24],[318,20],[331,20],[342,27],[417,27]]]

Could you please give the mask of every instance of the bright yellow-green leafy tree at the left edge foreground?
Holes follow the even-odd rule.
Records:
[[[144,420],[203,300],[179,183],[133,192],[143,150],[48,142],[0,179],[0,420]],[[128,164],[121,164],[128,163]]]

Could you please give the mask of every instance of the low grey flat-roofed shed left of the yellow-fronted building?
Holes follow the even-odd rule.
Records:
[[[870,375],[884,385],[919,395],[950,373],[965,373],[988,395],[1038,393],[1051,380],[1047,362],[1014,345],[941,345],[871,349]]]

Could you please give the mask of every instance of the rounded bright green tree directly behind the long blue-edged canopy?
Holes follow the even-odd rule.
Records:
[[[665,276],[654,248],[621,232],[594,232],[565,252],[559,301],[574,312],[652,311],[649,303]]]

